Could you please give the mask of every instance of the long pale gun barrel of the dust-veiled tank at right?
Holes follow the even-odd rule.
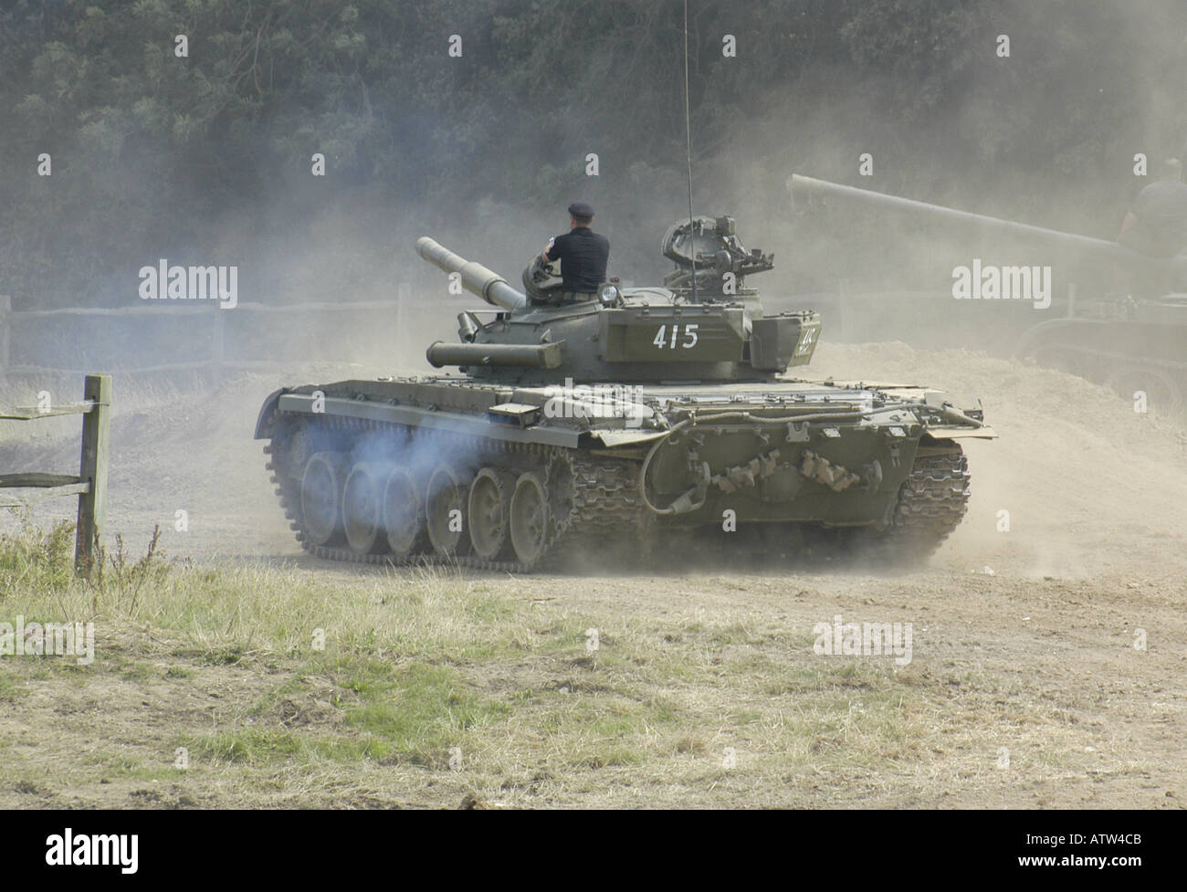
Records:
[[[883,192],[870,192],[855,186],[843,186],[838,183],[829,183],[823,179],[804,177],[799,173],[788,180],[788,187],[793,200],[807,200],[811,198],[830,198],[837,203],[851,203],[861,208],[878,208],[882,210],[908,214],[918,218],[929,218],[945,225],[963,227],[978,234],[990,234],[1008,236],[1014,240],[1026,240],[1032,244],[1048,246],[1084,257],[1110,260],[1124,267],[1138,269],[1145,273],[1159,273],[1170,275],[1173,262],[1166,257],[1151,257],[1138,254],[1135,250],[1109,242],[1104,238],[1092,238],[1086,235],[1074,235],[1072,232],[1060,232],[1055,229],[1043,229],[1032,227],[1027,223],[1015,223],[998,217],[986,217],[982,214],[970,214],[958,211],[952,208],[942,208],[938,204],[915,202],[910,198],[886,195]]]

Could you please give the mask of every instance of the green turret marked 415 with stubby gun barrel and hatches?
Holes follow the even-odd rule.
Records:
[[[820,318],[812,311],[764,316],[745,276],[774,259],[748,250],[732,217],[673,224],[661,249],[677,265],[662,286],[604,282],[590,300],[556,306],[556,269],[533,257],[523,294],[481,263],[421,236],[417,253],[499,307],[458,317],[461,344],[437,342],[429,362],[477,377],[527,383],[561,375],[575,381],[768,381],[812,359]],[[529,297],[531,295],[531,297]]]

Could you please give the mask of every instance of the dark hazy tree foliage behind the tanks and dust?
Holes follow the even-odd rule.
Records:
[[[1140,8],[690,0],[694,161],[713,178],[755,161],[772,214],[783,196],[768,186],[789,168],[851,177],[865,148],[893,171],[883,185],[908,193],[954,183],[967,205],[1014,184],[995,210],[1033,219],[1079,193],[1071,218],[1111,219],[1132,191],[1132,154],[1178,151],[1187,135],[1183,9]],[[684,168],[681,9],[12,0],[0,11],[4,289],[18,304],[110,302],[118,287],[125,300],[129,269],[134,280],[158,256],[222,262],[228,232],[287,240],[360,195],[393,215],[436,206],[440,221],[483,199],[535,214],[573,193],[623,209],[647,195],[666,214],[680,197],[646,190]],[[1011,36],[1008,63],[998,33]],[[722,55],[725,34],[736,58]],[[42,152],[51,178],[36,176]],[[332,189],[309,176],[315,152]]]

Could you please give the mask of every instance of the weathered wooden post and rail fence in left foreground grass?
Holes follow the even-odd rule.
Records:
[[[55,415],[83,415],[82,459],[78,473],[0,474],[0,490],[44,489],[52,496],[78,496],[78,523],[75,534],[75,568],[89,572],[103,547],[103,523],[107,517],[107,453],[112,419],[112,376],[88,375],[82,402],[58,406],[20,407],[0,410],[0,420],[36,421]],[[23,506],[26,499],[0,492],[0,506]]]

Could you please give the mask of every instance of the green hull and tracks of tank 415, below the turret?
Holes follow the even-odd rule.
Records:
[[[754,528],[918,560],[965,512],[957,439],[994,434],[975,401],[914,387],[442,376],[279,390],[255,435],[315,555],[527,572],[599,541]]]

